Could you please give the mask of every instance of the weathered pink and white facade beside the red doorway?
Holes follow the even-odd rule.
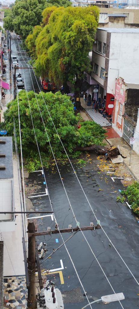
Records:
[[[123,136],[124,118],[122,116],[119,116],[119,111],[120,111],[120,104],[122,104],[122,115],[124,115],[125,97],[126,97],[126,86],[124,80],[123,78],[117,78],[112,127],[120,135],[120,137]]]

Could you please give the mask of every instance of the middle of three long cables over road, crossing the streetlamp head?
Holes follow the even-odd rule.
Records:
[[[28,68],[29,68],[29,66],[28,66]],[[29,68],[29,72],[30,72],[30,68]],[[30,73],[30,76],[31,76],[31,73]],[[32,80],[32,76],[31,76],[31,80]],[[32,85],[33,85],[33,81],[32,81]],[[34,85],[33,85],[33,89],[34,89]],[[36,97],[35,89],[34,89],[34,94],[35,94],[35,97]],[[38,108],[39,108],[39,111],[40,111],[40,107],[39,107],[39,104],[38,104],[37,97],[36,97],[36,102],[37,102],[37,105],[38,105]],[[44,124],[44,120],[43,120],[43,117],[42,117],[41,111],[40,111],[40,115],[41,115],[41,118],[42,118],[42,122],[43,122],[43,124]],[[62,180],[62,177],[61,177],[61,174],[60,174],[60,171],[59,171],[58,165],[57,165],[57,161],[56,161],[55,156],[54,156],[54,153],[53,153],[53,149],[52,149],[52,146],[51,146],[51,143],[50,143],[50,140],[49,140],[48,133],[47,133],[47,130],[46,130],[45,125],[44,125],[44,129],[45,129],[45,132],[46,132],[46,134],[47,134],[47,139],[48,139],[48,142],[49,142],[49,145],[50,145],[50,148],[51,148],[52,154],[53,154],[53,158],[54,158],[55,163],[56,163],[56,166],[57,166],[57,170],[58,170],[59,176],[60,176],[60,178],[61,178],[61,182],[62,182],[63,188],[64,188],[64,190],[65,190],[65,186],[64,186],[64,183],[63,183],[63,180]],[[116,294],[116,292],[115,292],[115,290],[113,289],[113,287],[112,287],[112,285],[111,285],[110,281],[108,280],[108,278],[107,278],[107,276],[106,276],[106,274],[105,274],[105,272],[104,272],[104,270],[103,270],[102,266],[100,265],[99,261],[97,260],[97,258],[96,258],[96,256],[95,256],[95,253],[93,252],[93,250],[92,250],[92,248],[91,248],[90,244],[88,243],[88,241],[87,241],[87,239],[86,239],[86,237],[85,237],[84,233],[82,232],[82,230],[81,230],[80,226],[78,225],[78,221],[77,221],[77,219],[76,219],[76,217],[75,217],[75,214],[74,214],[74,211],[73,211],[73,209],[72,209],[72,206],[71,206],[71,203],[70,203],[70,200],[69,200],[69,197],[68,197],[68,195],[67,195],[66,190],[65,190],[65,194],[66,194],[66,196],[67,196],[67,199],[68,199],[68,202],[69,202],[70,208],[71,208],[71,210],[72,210],[72,212],[73,212],[73,215],[74,215],[75,221],[76,221],[76,223],[77,223],[77,226],[79,227],[79,229],[80,229],[80,231],[81,231],[81,233],[82,233],[82,235],[83,235],[84,239],[86,240],[86,242],[87,242],[87,244],[88,244],[89,248],[91,249],[92,254],[94,255],[94,257],[95,257],[95,259],[96,259],[97,263],[99,264],[99,267],[101,268],[101,270],[102,270],[102,272],[103,272],[104,276],[106,277],[106,279],[107,279],[107,281],[108,281],[109,285],[111,286],[111,288],[112,288],[113,292]],[[117,295],[116,295],[116,297],[117,297]],[[118,297],[117,297],[117,300],[118,300],[118,301],[119,301],[119,303],[120,303],[120,300],[118,299]],[[123,306],[122,306],[122,304],[121,304],[121,303],[120,303],[120,305],[121,305],[121,307],[123,308]]]

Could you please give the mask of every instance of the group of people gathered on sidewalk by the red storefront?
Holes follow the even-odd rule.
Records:
[[[93,103],[92,108],[95,109],[95,112],[99,112],[104,118],[107,117],[110,122],[112,122],[112,115],[109,113],[107,114],[106,109],[105,109],[105,99],[102,100],[101,98],[98,98],[98,101],[96,99],[91,100],[91,95],[89,94],[87,96],[87,93],[83,95],[83,98],[85,102],[87,102],[87,106],[91,106]]]

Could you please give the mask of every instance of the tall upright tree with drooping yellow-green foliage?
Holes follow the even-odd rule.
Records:
[[[70,81],[78,93],[86,66],[91,68],[88,55],[98,27],[99,9],[52,6],[45,8],[42,15],[45,26],[35,41],[36,73],[49,76],[57,84]]]

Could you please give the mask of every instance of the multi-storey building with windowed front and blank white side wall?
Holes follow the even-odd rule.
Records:
[[[106,99],[107,112],[112,113],[108,105],[114,101],[116,78],[122,76],[125,83],[139,84],[138,72],[139,29],[98,28],[92,51],[91,84],[99,85],[97,97]]]

